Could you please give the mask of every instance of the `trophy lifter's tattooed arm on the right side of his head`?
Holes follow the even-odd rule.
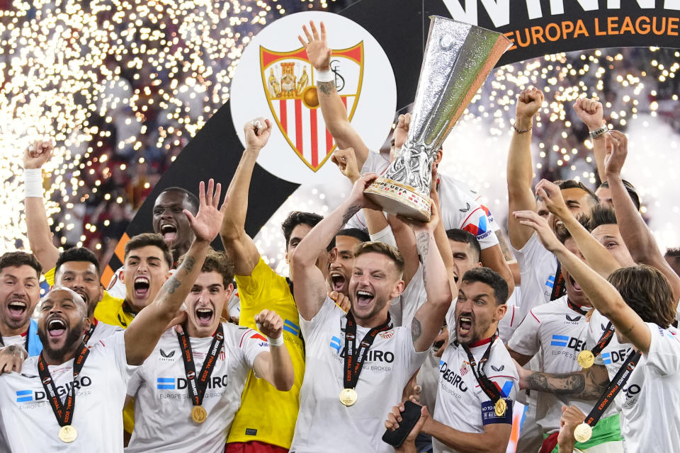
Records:
[[[427,299],[416,311],[411,321],[414,348],[416,352],[422,352],[432,345],[439,331],[441,331],[446,312],[453,299],[451,296],[452,287],[434,237],[434,231],[439,223],[436,203],[432,202],[430,222],[421,223],[404,218],[402,220],[411,226],[413,234],[416,236],[418,255],[421,266],[423,266],[423,281]],[[455,291],[458,292],[458,289],[455,289]]]

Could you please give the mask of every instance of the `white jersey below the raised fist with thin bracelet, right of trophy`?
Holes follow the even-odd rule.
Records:
[[[536,233],[521,250],[512,248],[522,280],[522,294],[519,303],[520,319],[536,306],[550,302],[557,273],[557,258],[540,243]]]

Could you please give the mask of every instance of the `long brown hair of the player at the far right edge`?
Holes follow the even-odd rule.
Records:
[[[615,270],[609,282],[642,321],[667,328],[675,321],[673,290],[665,275],[648,265]]]

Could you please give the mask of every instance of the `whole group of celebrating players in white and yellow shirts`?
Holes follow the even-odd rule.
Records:
[[[323,24],[300,41],[339,147],[332,161],[353,189],[325,217],[290,212],[288,277],[244,229],[256,159],[271,151],[264,117],[244,125],[229,188],[208,180],[198,196],[157,197],[111,291],[93,251],[52,242],[42,186],[52,143],[23,151],[31,253],[0,257],[0,449],[505,452],[521,410],[519,452],[680,452],[678,253],[664,258],[621,178],[629,149],[606,125],[614,100],[579,98],[570,113],[588,130],[596,190],[533,184],[545,94],[530,87],[507,144],[507,234],[438,172],[455,159],[441,151],[431,219],[417,222],[364,195],[390,162],[324,81]],[[399,117],[392,157],[409,122]],[[127,214],[102,211],[123,228]],[[224,251],[210,248],[218,235]],[[42,299],[41,275],[52,286]],[[237,324],[225,315],[234,280]]]

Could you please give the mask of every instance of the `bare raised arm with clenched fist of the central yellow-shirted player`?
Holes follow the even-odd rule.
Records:
[[[244,125],[246,149],[243,151],[234,178],[227,188],[227,215],[220,228],[225,252],[232,258],[236,275],[250,275],[260,259],[253,240],[246,234],[248,193],[255,161],[271,135],[271,122],[262,117]]]

